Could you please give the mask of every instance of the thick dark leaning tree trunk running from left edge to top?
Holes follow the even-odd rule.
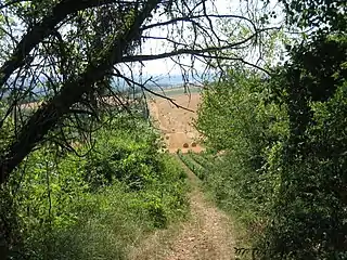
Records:
[[[43,140],[43,136],[54,128],[63,116],[68,114],[72,105],[78,103],[85,93],[90,92],[93,84],[101,80],[115,63],[121,61],[128,46],[138,38],[140,26],[158,3],[159,0],[149,0],[128,29],[115,39],[114,44],[102,56],[98,57],[99,65],[89,64],[76,80],[65,82],[59,94],[36,110],[22,127],[16,140],[8,146],[7,154],[0,158],[0,184],[7,182],[10,173]]]

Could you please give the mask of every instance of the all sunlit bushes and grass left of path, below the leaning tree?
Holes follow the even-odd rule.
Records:
[[[12,218],[7,223],[15,231],[10,256],[124,259],[149,231],[184,216],[185,173],[159,154],[158,134],[145,119],[113,115],[93,142],[89,153],[76,144],[83,157],[56,155],[48,144],[11,178],[13,199],[1,200],[1,216]]]

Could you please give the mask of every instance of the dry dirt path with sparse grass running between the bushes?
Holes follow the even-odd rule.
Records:
[[[132,253],[131,260],[234,259],[234,240],[228,216],[206,199],[200,180],[183,167],[192,186],[189,220],[156,232]]]

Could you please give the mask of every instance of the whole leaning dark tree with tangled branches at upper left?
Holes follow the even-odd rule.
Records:
[[[9,126],[11,115],[14,127],[8,129],[8,144],[0,151],[0,183],[47,140],[69,147],[73,134],[68,131],[86,131],[80,127],[80,115],[98,119],[97,100],[105,89],[114,91],[112,77],[147,90],[127,77],[120,64],[184,54],[195,60],[223,57],[223,51],[247,48],[266,30],[246,16],[214,13],[211,6],[213,2],[202,0],[2,2],[1,41],[10,44],[1,50],[0,94],[5,102],[0,128]],[[216,21],[234,20],[249,34],[233,41],[221,39]],[[167,31],[166,37],[153,35],[160,29]],[[146,40],[163,41],[168,50],[141,54]],[[24,116],[20,104],[33,96],[42,103]],[[123,105],[116,93],[113,99]]]

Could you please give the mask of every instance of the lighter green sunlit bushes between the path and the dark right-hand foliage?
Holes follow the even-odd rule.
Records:
[[[203,93],[197,129],[219,156],[203,155],[205,182],[216,200],[231,210],[253,236],[261,235],[279,192],[274,158],[288,135],[283,107],[271,101],[271,83],[259,75],[231,70]],[[207,164],[207,160],[210,162]]]

